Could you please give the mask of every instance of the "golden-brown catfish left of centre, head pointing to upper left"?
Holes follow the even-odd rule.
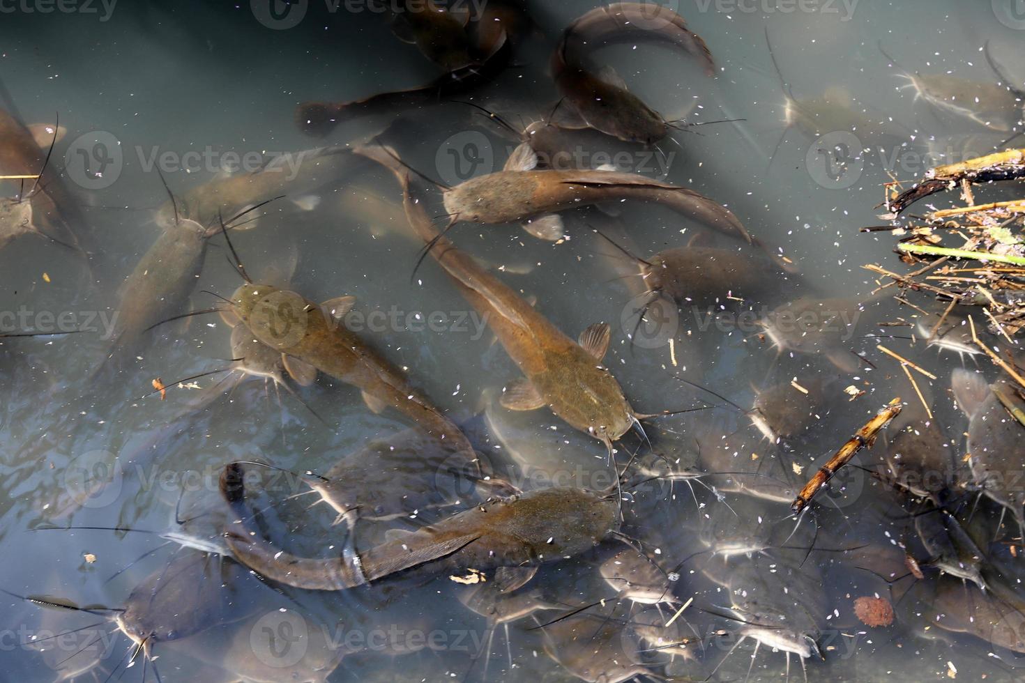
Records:
[[[466,437],[414,390],[402,373],[345,328],[353,297],[318,305],[271,285],[246,284],[231,297],[232,310],[261,343],[290,359],[351,384],[375,413],[393,408],[439,438],[473,453]],[[290,360],[291,361],[291,360]]]

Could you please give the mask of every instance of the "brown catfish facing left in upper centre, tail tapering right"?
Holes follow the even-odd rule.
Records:
[[[731,238],[760,244],[732,211],[693,189],[637,173],[604,170],[537,170],[537,155],[520,145],[505,168],[445,189],[445,211],[452,223],[523,223],[531,234],[564,237],[564,209],[637,200],[664,205]]]

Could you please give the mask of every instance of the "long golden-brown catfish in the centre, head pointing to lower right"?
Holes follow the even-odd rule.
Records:
[[[623,395],[619,382],[601,366],[609,348],[610,328],[596,324],[584,330],[579,343],[564,335],[519,294],[478,265],[438,233],[412,196],[405,176],[406,216],[435,259],[455,282],[469,303],[487,319],[505,351],[526,378],[508,387],[502,404],[516,411],[548,405],[570,426],[612,442],[625,434],[639,417]]]

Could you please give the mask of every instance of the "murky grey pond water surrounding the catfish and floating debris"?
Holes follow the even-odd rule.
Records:
[[[558,243],[512,224],[448,232],[569,338],[608,323],[601,362],[638,415],[701,409],[645,419],[643,435],[616,442],[615,471],[601,440],[547,408],[503,405],[523,373],[434,259],[414,274],[423,242],[395,176],[348,151],[314,152],[379,134],[411,168],[456,185],[500,170],[520,138],[455,100],[517,131],[569,114],[557,106],[549,58],[563,29],[597,3],[454,4],[456,16],[490,7],[530,17],[503,48],[500,73],[458,94],[400,98],[315,137],[297,120],[300,102],[438,78],[399,39],[415,23],[389,23],[371,2],[0,0],[2,109],[67,129],[44,178],[54,191],[66,186],[70,227],[90,252],[34,236],[0,251],[0,333],[83,331],[0,348],[2,678],[1020,680],[1021,529],[966,457],[1000,457],[1020,514],[1025,433],[988,393],[1008,376],[975,347],[927,347],[946,301],[877,292],[890,281],[864,264],[908,268],[889,232],[859,231],[881,222],[884,183],[987,154],[1021,130],[1016,92],[971,85],[1001,83],[988,43],[1025,90],[1015,3],[662,3],[707,43],[714,77],[665,44],[594,48],[596,70],[614,67],[665,120],[709,125],[681,124],[650,148],[581,137],[572,164],[611,163],[701,193],[799,271],[654,202],[570,208]],[[937,75],[948,78],[924,80]],[[724,119],[736,121],[711,123]],[[190,199],[247,177],[236,195]],[[5,181],[4,197],[30,185]],[[1020,184],[1003,183],[976,200],[1020,196]],[[429,217],[445,213],[440,193],[426,197]],[[235,221],[236,260],[212,234],[218,220],[234,225],[268,200]],[[929,201],[953,202],[955,193]],[[210,228],[202,268],[192,276],[169,257],[151,261],[156,272],[133,281],[147,287],[124,291],[175,212]],[[681,306],[655,301],[636,329],[645,285],[610,240],[649,262],[669,248],[720,251],[682,272]],[[239,261],[253,281],[311,302],[355,297],[345,326],[462,430],[477,461],[325,373],[297,383],[301,369],[278,367],[276,353],[288,389],[238,373],[179,387],[253,359],[232,346],[237,321],[216,313],[115,344],[132,306],[153,322],[227,308],[222,297],[243,284]],[[955,309],[949,322],[963,329],[968,314],[981,331],[979,309]],[[1017,345],[981,334],[1021,362]],[[911,371],[912,386],[879,345],[935,379]],[[898,419],[797,523],[797,490],[898,396]],[[231,554],[224,530],[238,528],[219,487],[233,461],[281,468],[247,467],[246,505],[259,510],[247,529],[299,557],[369,557],[409,542],[401,531],[552,485],[620,499],[622,524],[571,557],[535,553],[533,575],[496,570],[499,557],[491,567],[427,564],[345,591],[302,590],[261,583],[221,556]],[[339,492],[335,504],[314,505],[320,476]],[[545,523],[558,546],[564,527]],[[859,598],[890,603],[893,624],[869,626]],[[116,620],[138,613],[156,625],[138,638],[152,660],[117,631]]]

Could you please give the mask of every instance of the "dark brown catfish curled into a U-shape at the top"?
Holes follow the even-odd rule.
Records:
[[[578,54],[583,45],[632,42],[639,38],[683,47],[702,63],[706,75],[714,73],[708,47],[674,11],[668,7],[653,10],[646,3],[615,3],[593,9],[566,28],[551,56],[551,74],[564,101],[580,120],[579,126],[650,146],[668,135],[676,122],[666,121],[645,104],[609,68],[593,73]]]

